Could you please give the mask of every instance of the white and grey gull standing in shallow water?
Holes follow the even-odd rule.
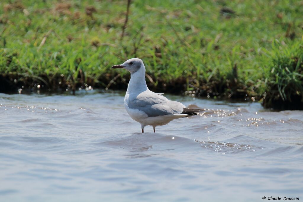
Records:
[[[124,97],[124,106],[129,116],[144,127],[168,124],[178,118],[191,117],[204,109],[189,109],[177,101],[163,96],[163,93],[150,91],[145,81],[145,65],[139,58],[131,58],[121,65],[114,65],[112,69],[123,68],[131,73],[127,91]]]

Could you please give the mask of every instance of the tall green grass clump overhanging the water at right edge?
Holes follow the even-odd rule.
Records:
[[[302,41],[290,47],[274,41],[272,50],[268,53],[272,61],[264,67],[263,88],[266,96],[263,105],[270,107],[284,103],[285,109],[303,109]]]

